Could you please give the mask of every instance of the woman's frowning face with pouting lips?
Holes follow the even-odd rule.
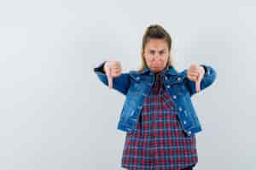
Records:
[[[166,40],[150,39],[144,48],[143,57],[151,71],[159,72],[165,69],[169,57]]]

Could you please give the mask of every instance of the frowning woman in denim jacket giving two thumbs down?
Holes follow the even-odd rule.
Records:
[[[216,71],[190,65],[176,71],[172,38],[159,25],[143,35],[142,66],[122,73],[119,61],[94,68],[109,88],[124,94],[118,129],[126,132],[121,167],[129,170],[189,170],[198,162],[195,133],[201,131],[191,96],[209,87]]]

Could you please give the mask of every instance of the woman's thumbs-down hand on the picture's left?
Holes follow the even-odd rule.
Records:
[[[104,65],[104,71],[108,77],[108,87],[113,88],[113,77],[119,77],[122,68],[119,61],[107,61]]]

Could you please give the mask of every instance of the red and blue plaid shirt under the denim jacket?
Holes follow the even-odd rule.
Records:
[[[129,170],[181,170],[198,161],[195,135],[183,132],[162,81],[164,71],[154,73],[137,127],[126,133],[121,166]]]

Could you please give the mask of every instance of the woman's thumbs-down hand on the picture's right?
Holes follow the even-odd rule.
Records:
[[[200,83],[201,83],[202,77],[204,77],[204,74],[205,74],[205,69],[203,66],[197,65],[197,64],[190,65],[187,77],[189,78],[189,80],[195,82],[196,93],[200,92],[201,90]]]

